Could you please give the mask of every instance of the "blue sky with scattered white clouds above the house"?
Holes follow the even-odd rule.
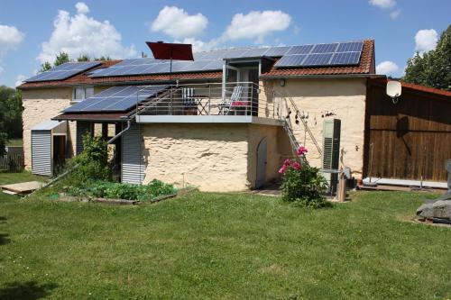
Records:
[[[31,77],[66,50],[133,58],[144,41],[197,50],[374,39],[379,72],[400,76],[416,50],[435,47],[451,1],[3,1],[0,85]]]

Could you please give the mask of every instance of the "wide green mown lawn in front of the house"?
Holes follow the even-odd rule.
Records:
[[[0,299],[447,299],[451,231],[410,222],[424,196],[359,192],[318,211],[259,195],[0,196]]]

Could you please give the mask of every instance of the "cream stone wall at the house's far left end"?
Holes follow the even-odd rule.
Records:
[[[32,168],[32,135],[35,125],[48,121],[70,105],[71,87],[23,90],[23,153],[25,168]],[[75,151],[75,123],[69,123],[69,147]],[[74,142],[71,142],[74,141]]]

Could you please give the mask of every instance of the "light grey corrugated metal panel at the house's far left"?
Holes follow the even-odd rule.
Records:
[[[32,174],[51,176],[51,131],[32,131]]]

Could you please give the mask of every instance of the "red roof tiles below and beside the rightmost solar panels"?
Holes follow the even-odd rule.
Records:
[[[375,74],[374,67],[374,41],[364,41],[362,58],[356,66],[318,67],[318,68],[272,68],[262,74],[262,77],[310,77],[310,76],[334,76]]]

